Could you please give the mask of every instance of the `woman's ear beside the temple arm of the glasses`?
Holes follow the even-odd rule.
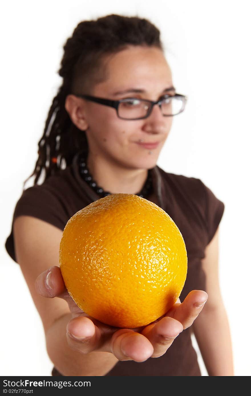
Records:
[[[82,131],[88,128],[85,118],[84,101],[75,95],[67,95],[65,99],[65,110],[69,114],[73,124]]]

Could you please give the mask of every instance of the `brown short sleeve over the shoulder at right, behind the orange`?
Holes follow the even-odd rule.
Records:
[[[205,221],[206,227],[208,232],[208,242],[211,242],[217,228],[220,224],[222,219],[225,205],[222,201],[220,201],[215,194],[207,187],[201,180],[200,183],[203,187],[205,203],[204,203],[204,210],[205,210]]]

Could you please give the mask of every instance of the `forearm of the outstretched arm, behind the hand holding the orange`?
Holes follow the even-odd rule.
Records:
[[[71,318],[71,314],[62,316],[46,332],[46,347],[50,359],[65,376],[105,375],[118,360],[109,352],[82,354],[70,348],[66,339],[66,325]]]

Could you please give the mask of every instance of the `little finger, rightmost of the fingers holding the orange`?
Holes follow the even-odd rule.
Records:
[[[176,303],[166,316],[170,316],[182,323],[183,328],[191,326],[203,309],[208,295],[202,290],[192,290],[186,296],[183,303]]]

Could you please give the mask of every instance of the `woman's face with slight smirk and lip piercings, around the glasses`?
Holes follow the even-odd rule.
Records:
[[[96,84],[90,95],[111,100],[133,97],[157,101],[165,93],[174,93],[174,89],[167,91],[172,87],[171,70],[158,48],[127,48],[108,58],[107,72],[108,78]],[[121,91],[128,92],[117,93]],[[128,169],[150,169],[156,165],[172,124],[172,117],[164,117],[157,105],[148,118],[123,120],[115,109],[84,100],[84,114],[90,155],[103,156]],[[139,141],[159,144],[149,149],[139,145]]]

